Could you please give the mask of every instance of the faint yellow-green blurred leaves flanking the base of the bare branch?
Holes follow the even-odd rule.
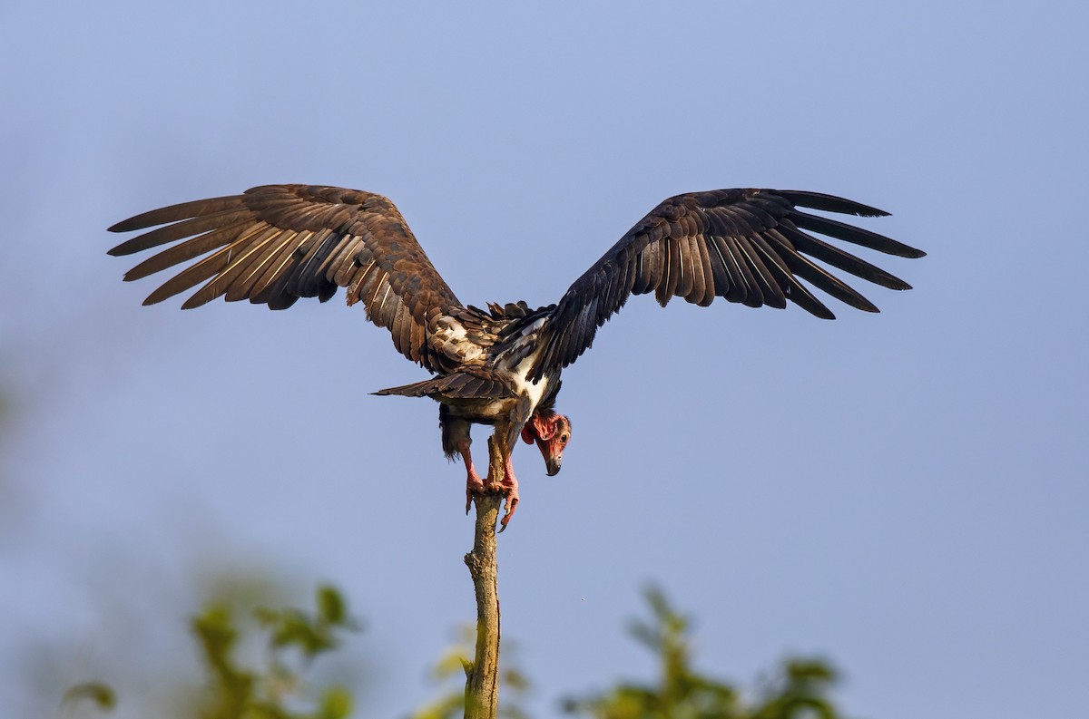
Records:
[[[431,679],[444,687],[442,693],[407,719],[458,719],[465,715],[465,678],[473,667],[475,642],[476,629],[463,627],[457,644],[449,647],[431,668]],[[501,655],[500,665],[504,668],[499,677],[499,716],[505,719],[527,719],[528,715],[518,706],[518,702],[528,693],[529,680],[514,667],[515,656],[509,643],[503,643]]]

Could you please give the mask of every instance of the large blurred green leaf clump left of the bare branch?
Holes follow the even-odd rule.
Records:
[[[356,629],[344,599],[331,586],[317,593],[317,610],[255,611],[267,633],[264,662],[257,669],[238,664],[242,632],[233,612],[212,605],[192,622],[209,674],[209,696],[201,719],[344,719],[352,694],[343,686],[316,689],[306,671],[319,655],[339,645],[339,634]],[[307,708],[309,707],[309,708]]]

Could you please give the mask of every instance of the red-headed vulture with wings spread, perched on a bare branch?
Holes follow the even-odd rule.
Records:
[[[518,503],[511,453],[521,436],[536,444],[547,473],[560,471],[571,421],[555,411],[560,374],[594,344],[598,327],[632,295],[653,294],[701,307],[715,297],[747,307],[794,302],[827,320],[832,311],[807,287],[867,312],[868,299],[829,272],[839,269],[891,289],[903,280],[821,239],[886,255],[925,252],[822,214],[888,213],[832,195],[800,190],[715,189],[671,197],[639,220],[554,305],[525,301],[487,309],[466,305],[431,264],[397,208],[386,197],[313,185],[264,185],[242,195],[151,210],[110,227],[127,233],[110,255],[167,246],[125,274],[140,280],[200,258],[144,301],[199,288],[182,305],[217,297],[282,310],[299,297],[326,301],[341,287],[347,303],[393,335],[393,346],[433,376],[378,395],[439,401],[446,457],[467,472],[466,511],[474,493],[505,496],[501,530]],[[469,454],[473,424],[493,426],[502,476],[481,479]]]

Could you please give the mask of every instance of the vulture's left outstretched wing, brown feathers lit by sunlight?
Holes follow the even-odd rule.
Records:
[[[132,255],[176,243],[130,270],[125,281],[206,257],[168,280],[145,305],[204,283],[184,309],[225,296],[279,310],[299,297],[325,301],[345,287],[348,305],[362,301],[370,321],[393,334],[397,351],[439,370],[441,358],[428,337],[446,308],[461,302],[387,198],[341,187],[265,185],[145,212],[110,232],[157,225],[164,226],[110,250]]]

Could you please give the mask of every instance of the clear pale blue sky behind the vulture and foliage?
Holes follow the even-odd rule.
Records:
[[[473,616],[437,407],[368,394],[421,370],[342,301],[142,308],[105,227],[343,185],[396,202],[463,300],[534,305],[661,199],[754,186],[893,212],[864,223],[929,252],[880,261],[916,288],[835,322],[635,298],[599,333],[563,472],[515,455],[531,706],[649,672],[623,624],[650,580],[703,667],[827,655],[854,716],[1084,706],[1086,11],[633,5],[0,9],[0,694],[51,706],[27,653],[123,697],[196,677],[164,659],[196,567],[342,586],[367,716],[426,698]]]

